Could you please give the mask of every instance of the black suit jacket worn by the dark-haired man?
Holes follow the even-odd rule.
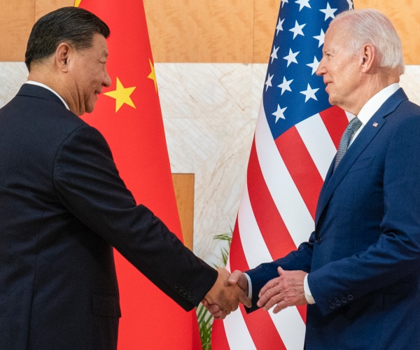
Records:
[[[0,349],[116,349],[112,247],[186,310],[213,286],[52,92],[25,84],[0,110],[0,149]]]

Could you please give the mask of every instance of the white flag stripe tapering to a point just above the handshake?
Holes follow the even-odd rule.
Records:
[[[241,204],[239,204],[238,227],[248,267],[253,269],[262,262],[271,262],[273,260],[272,256],[265,245],[253,214],[247,184],[244,186]]]

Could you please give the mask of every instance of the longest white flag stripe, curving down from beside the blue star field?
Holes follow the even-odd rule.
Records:
[[[255,127],[255,147],[269,192],[295,246],[299,246],[314,230],[314,220],[274,143],[262,104]]]

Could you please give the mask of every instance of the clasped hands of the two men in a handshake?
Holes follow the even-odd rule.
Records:
[[[251,307],[248,298],[248,279],[239,271],[232,274],[227,269],[217,269],[218,278],[202,300],[214,319],[223,319],[239,307],[239,302]]]

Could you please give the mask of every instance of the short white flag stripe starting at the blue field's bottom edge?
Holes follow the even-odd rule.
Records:
[[[332,158],[337,149],[328,133],[325,124],[319,113],[303,120],[296,125],[297,132],[300,134],[304,146],[318,169],[322,179],[325,180]]]

